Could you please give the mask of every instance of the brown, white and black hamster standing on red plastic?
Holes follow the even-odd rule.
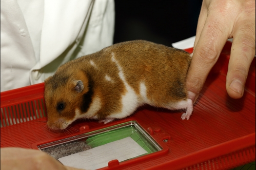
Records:
[[[144,104],[186,109],[190,54],[145,40],[126,41],[61,65],[45,80],[47,125],[63,130],[79,118],[108,123]]]

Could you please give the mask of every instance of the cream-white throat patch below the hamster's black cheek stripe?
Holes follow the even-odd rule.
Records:
[[[95,119],[98,119],[96,113],[99,111],[100,108],[101,108],[101,101],[100,101],[100,98],[98,96],[96,96],[93,99],[93,101],[86,113],[81,113],[81,111],[78,108],[75,110],[76,114],[75,114],[75,118],[73,120],[76,120],[78,118],[92,118],[92,117]]]

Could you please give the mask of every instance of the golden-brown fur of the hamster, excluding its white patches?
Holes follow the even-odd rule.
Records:
[[[156,107],[186,99],[185,81],[191,62],[189,53],[143,40],[127,41],[69,61],[61,65],[54,76],[45,80],[48,126],[54,126],[60,117],[73,120],[75,109],[81,107],[83,94],[89,90],[93,91],[92,101],[96,97],[101,101],[100,109],[94,114],[98,119],[121,111],[121,95],[126,94],[127,90],[118,75],[112,54],[139,101],[142,101],[140,82],[145,83],[147,98]],[[106,75],[111,77],[112,82],[105,80]],[[81,93],[74,90],[76,80],[83,82]],[[65,103],[65,109],[61,112],[56,109],[59,102]]]

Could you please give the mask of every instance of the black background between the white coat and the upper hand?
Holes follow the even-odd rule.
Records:
[[[114,43],[144,39],[171,44],[196,35],[202,0],[115,0]]]

